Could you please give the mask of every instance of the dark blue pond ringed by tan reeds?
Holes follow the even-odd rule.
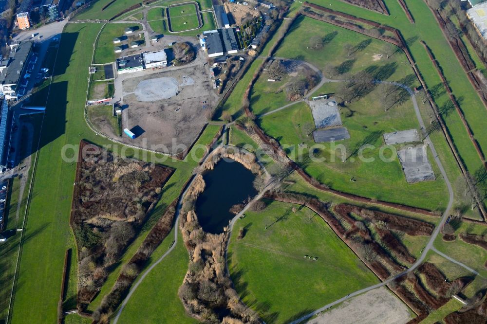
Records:
[[[231,161],[231,162],[226,162]],[[213,170],[203,174],[206,187],[196,200],[196,214],[205,232],[219,234],[235,215],[230,207],[257,194],[254,174],[239,162],[220,160]]]

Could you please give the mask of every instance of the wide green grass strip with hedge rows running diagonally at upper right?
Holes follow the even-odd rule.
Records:
[[[441,66],[453,94],[457,98],[461,98],[459,104],[465,114],[465,118],[472,128],[473,133],[476,134],[476,139],[479,141],[479,145],[484,152],[487,152],[487,137],[481,136],[483,130],[487,127],[487,110],[468,81],[465,72],[424,1],[413,1],[408,3],[408,8],[414,17],[415,24],[409,22],[399,6],[399,3],[394,0],[384,1],[391,13],[390,16],[380,15],[369,10],[348,5],[339,0],[312,0],[310,2],[399,29],[408,43],[408,47],[410,48],[412,56],[416,61],[417,67],[421,72],[428,89],[432,89],[434,86],[440,84],[441,80],[423,45],[420,44],[418,39],[425,41]],[[449,98],[447,94],[442,94],[435,98],[435,102],[440,107],[448,101]],[[452,111],[448,117],[445,118],[450,135],[455,142],[462,160],[466,163],[468,171],[471,173],[475,172],[482,166],[482,163],[468,138],[467,131],[465,130],[460,117],[455,111]],[[448,154],[445,151],[442,153]],[[451,159],[451,157],[449,157],[449,159]],[[454,161],[449,163],[450,166],[454,165]]]

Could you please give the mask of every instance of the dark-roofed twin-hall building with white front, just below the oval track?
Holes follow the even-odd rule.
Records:
[[[235,54],[239,51],[237,37],[233,28],[223,28],[203,32],[200,45],[206,51],[208,57]]]

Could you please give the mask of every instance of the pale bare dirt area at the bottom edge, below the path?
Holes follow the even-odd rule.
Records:
[[[403,324],[411,318],[408,307],[387,288],[381,287],[348,301],[309,321],[311,324]]]

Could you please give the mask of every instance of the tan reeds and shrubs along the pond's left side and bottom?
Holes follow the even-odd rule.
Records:
[[[240,301],[225,271],[229,233],[226,229],[222,234],[206,233],[198,222],[194,204],[198,198],[196,193],[204,188],[204,180],[201,175],[197,177],[194,188],[189,188],[190,195],[185,196],[179,224],[190,255],[179,297],[187,312],[204,323],[260,323],[258,315]],[[243,235],[241,232],[240,236]],[[219,309],[228,309],[230,315],[222,318]]]

